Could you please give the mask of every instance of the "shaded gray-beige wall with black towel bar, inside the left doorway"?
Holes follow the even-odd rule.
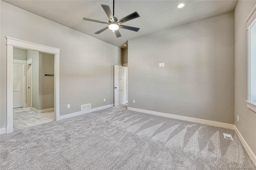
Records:
[[[39,52],[39,103],[38,110],[54,107],[54,55]]]

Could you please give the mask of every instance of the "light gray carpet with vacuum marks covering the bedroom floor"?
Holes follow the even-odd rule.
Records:
[[[234,130],[127,111],[127,105],[0,136],[0,169],[229,169],[253,165]],[[224,139],[222,133],[234,140]]]

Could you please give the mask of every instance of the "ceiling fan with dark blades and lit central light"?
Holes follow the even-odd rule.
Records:
[[[83,20],[86,20],[86,21],[108,24],[107,27],[102,28],[101,30],[95,32],[94,34],[100,34],[100,33],[104,32],[105,30],[108,30],[108,28],[109,28],[110,30],[112,30],[116,34],[116,38],[119,38],[119,37],[121,37],[121,34],[120,34],[118,28],[123,28],[123,29],[126,29],[126,30],[135,31],[135,32],[138,32],[140,30],[140,28],[121,25],[124,22],[127,22],[127,21],[130,21],[130,20],[133,20],[135,18],[140,17],[138,12],[135,11],[132,14],[118,20],[118,18],[116,18],[114,16],[114,7],[115,7],[115,1],[114,0],[113,0],[113,15],[112,15],[110,7],[108,5],[101,5],[101,6],[102,6],[103,10],[105,11],[105,13],[108,16],[108,22],[93,20],[93,19],[90,19],[90,18],[83,18]]]

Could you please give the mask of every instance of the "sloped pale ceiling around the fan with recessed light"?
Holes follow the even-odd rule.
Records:
[[[129,39],[232,11],[237,0],[116,0],[115,16],[118,19],[134,11],[140,14],[139,18],[123,24],[138,27],[140,30],[133,32],[120,29],[122,35],[120,38],[116,38],[111,30],[94,34],[106,25],[82,20],[85,17],[108,22],[108,17],[100,4],[109,5],[112,10],[112,0],[5,0],[5,2],[124,48],[123,44]],[[178,9],[177,5],[181,2],[186,6]]]

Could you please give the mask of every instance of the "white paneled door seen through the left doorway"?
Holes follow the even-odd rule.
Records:
[[[13,108],[23,107],[24,64],[13,63]]]

